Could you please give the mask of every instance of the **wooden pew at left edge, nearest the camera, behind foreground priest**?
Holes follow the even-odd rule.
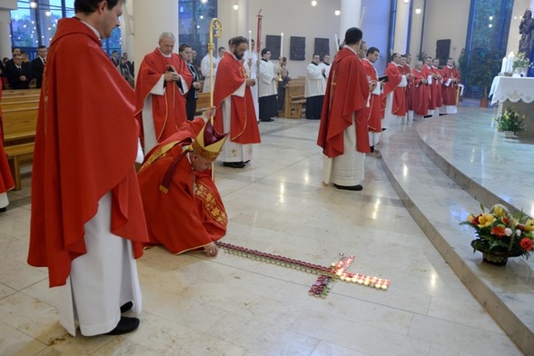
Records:
[[[22,187],[20,164],[31,159],[35,146],[35,127],[37,123],[36,104],[25,104],[25,107],[4,109],[2,105],[2,122],[4,125],[4,149],[15,181],[15,190]]]

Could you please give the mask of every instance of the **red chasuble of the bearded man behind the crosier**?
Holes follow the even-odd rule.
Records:
[[[252,92],[249,86],[245,87],[243,97],[232,95],[241,87],[247,78],[246,71],[242,62],[235,55],[226,52],[219,64],[217,64],[217,79],[213,87],[213,105],[217,107],[215,114],[215,130],[223,134],[223,110],[221,104],[226,98],[231,100],[231,119],[230,134],[228,138],[233,143],[261,143],[260,130],[256,112],[254,111],[254,102]],[[224,133],[226,134],[226,133]]]

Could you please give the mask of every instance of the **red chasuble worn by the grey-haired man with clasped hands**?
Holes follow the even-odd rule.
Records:
[[[158,48],[153,53],[146,54],[139,67],[137,82],[135,84],[135,117],[143,127],[143,104],[144,99],[150,95],[153,86],[160,80],[169,66],[180,74],[187,84],[183,92],[193,84],[193,74],[187,68],[179,54],[171,54],[165,57]],[[152,95],[153,127],[156,139],[162,142],[187,120],[185,112],[185,94],[180,93],[177,82],[165,82],[165,94]]]

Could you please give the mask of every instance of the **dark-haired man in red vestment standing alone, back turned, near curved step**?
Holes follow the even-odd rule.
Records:
[[[358,57],[362,35],[359,28],[349,28],[345,45],[334,58],[317,139],[326,156],[323,182],[350,191],[363,189],[363,159],[371,152],[365,109],[376,82],[371,86]]]

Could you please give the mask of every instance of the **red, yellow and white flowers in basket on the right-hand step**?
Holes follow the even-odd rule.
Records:
[[[474,251],[522,255],[529,258],[532,252],[534,219],[530,219],[523,212],[513,216],[501,204],[493,205],[489,213],[485,212],[482,204],[480,207],[482,213],[470,214],[467,221],[461,223],[475,229],[477,239],[471,242]]]

